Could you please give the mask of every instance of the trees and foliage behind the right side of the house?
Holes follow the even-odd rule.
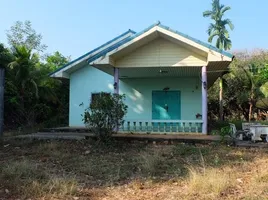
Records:
[[[225,119],[261,120],[267,116],[268,51],[234,52],[230,73],[223,76]],[[218,80],[219,81],[219,80]],[[218,115],[217,82],[209,89],[210,118]],[[259,105],[259,106],[258,106]]]

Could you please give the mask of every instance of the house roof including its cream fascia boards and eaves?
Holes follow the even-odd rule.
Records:
[[[226,70],[227,66],[233,59],[233,55],[228,52],[219,50],[218,48],[208,43],[192,38],[181,32],[172,30],[169,27],[164,26],[160,24],[160,22],[158,22],[156,24],[149,26],[148,28],[139,33],[135,33],[134,31],[129,30],[123,33],[122,35],[114,38],[113,40],[105,43],[104,45],[94,49],[93,51],[90,51],[85,55],[68,63],[67,65],[59,68],[55,72],[51,73],[50,76],[69,78],[70,73],[79,69],[80,67],[83,67],[86,63],[89,63],[90,65],[93,65],[106,73],[112,74],[111,67],[116,66],[115,61],[117,59],[124,57],[125,55],[131,53],[137,48],[159,37],[169,40],[172,43],[176,43],[182,47],[185,47],[197,53],[200,56],[203,56],[204,58],[206,58],[206,65],[208,67],[213,67],[214,70],[216,68]],[[185,67],[198,67],[198,64],[193,66],[191,66],[191,64],[185,64],[185,66],[178,64],[174,66],[177,67],[179,66],[181,69],[177,70],[181,71]],[[163,66],[150,66],[150,67],[156,68],[156,67],[171,67],[171,66],[163,65]],[[199,67],[201,67],[201,65]],[[139,70],[142,71],[142,69]],[[159,71],[161,69],[158,68],[155,70]],[[191,70],[195,71],[194,68],[192,68]],[[124,70],[122,69],[122,72],[123,71]],[[131,70],[129,70],[128,72],[130,71]]]

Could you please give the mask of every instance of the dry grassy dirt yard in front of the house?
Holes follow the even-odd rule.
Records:
[[[268,149],[3,140],[0,199],[268,199]]]

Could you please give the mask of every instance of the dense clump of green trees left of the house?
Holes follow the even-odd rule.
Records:
[[[29,21],[16,22],[7,38],[9,48],[0,44],[0,66],[6,70],[5,128],[67,125],[69,82],[51,79],[48,74],[70,57],[57,51],[40,59],[39,53],[47,46]]]

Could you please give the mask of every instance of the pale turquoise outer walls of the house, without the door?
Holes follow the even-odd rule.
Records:
[[[201,82],[198,77],[187,78],[142,78],[122,79],[120,94],[126,94],[127,119],[152,119],[152,90],[181,91],[181,119],[195,120],[201,114]],[[83,126],[84,109],[88,106],[92,92],[113,92],[113,77],[91,66],[86,66],[70,77],[70,126]],[[79,106],[83,102],[82,106]]]

